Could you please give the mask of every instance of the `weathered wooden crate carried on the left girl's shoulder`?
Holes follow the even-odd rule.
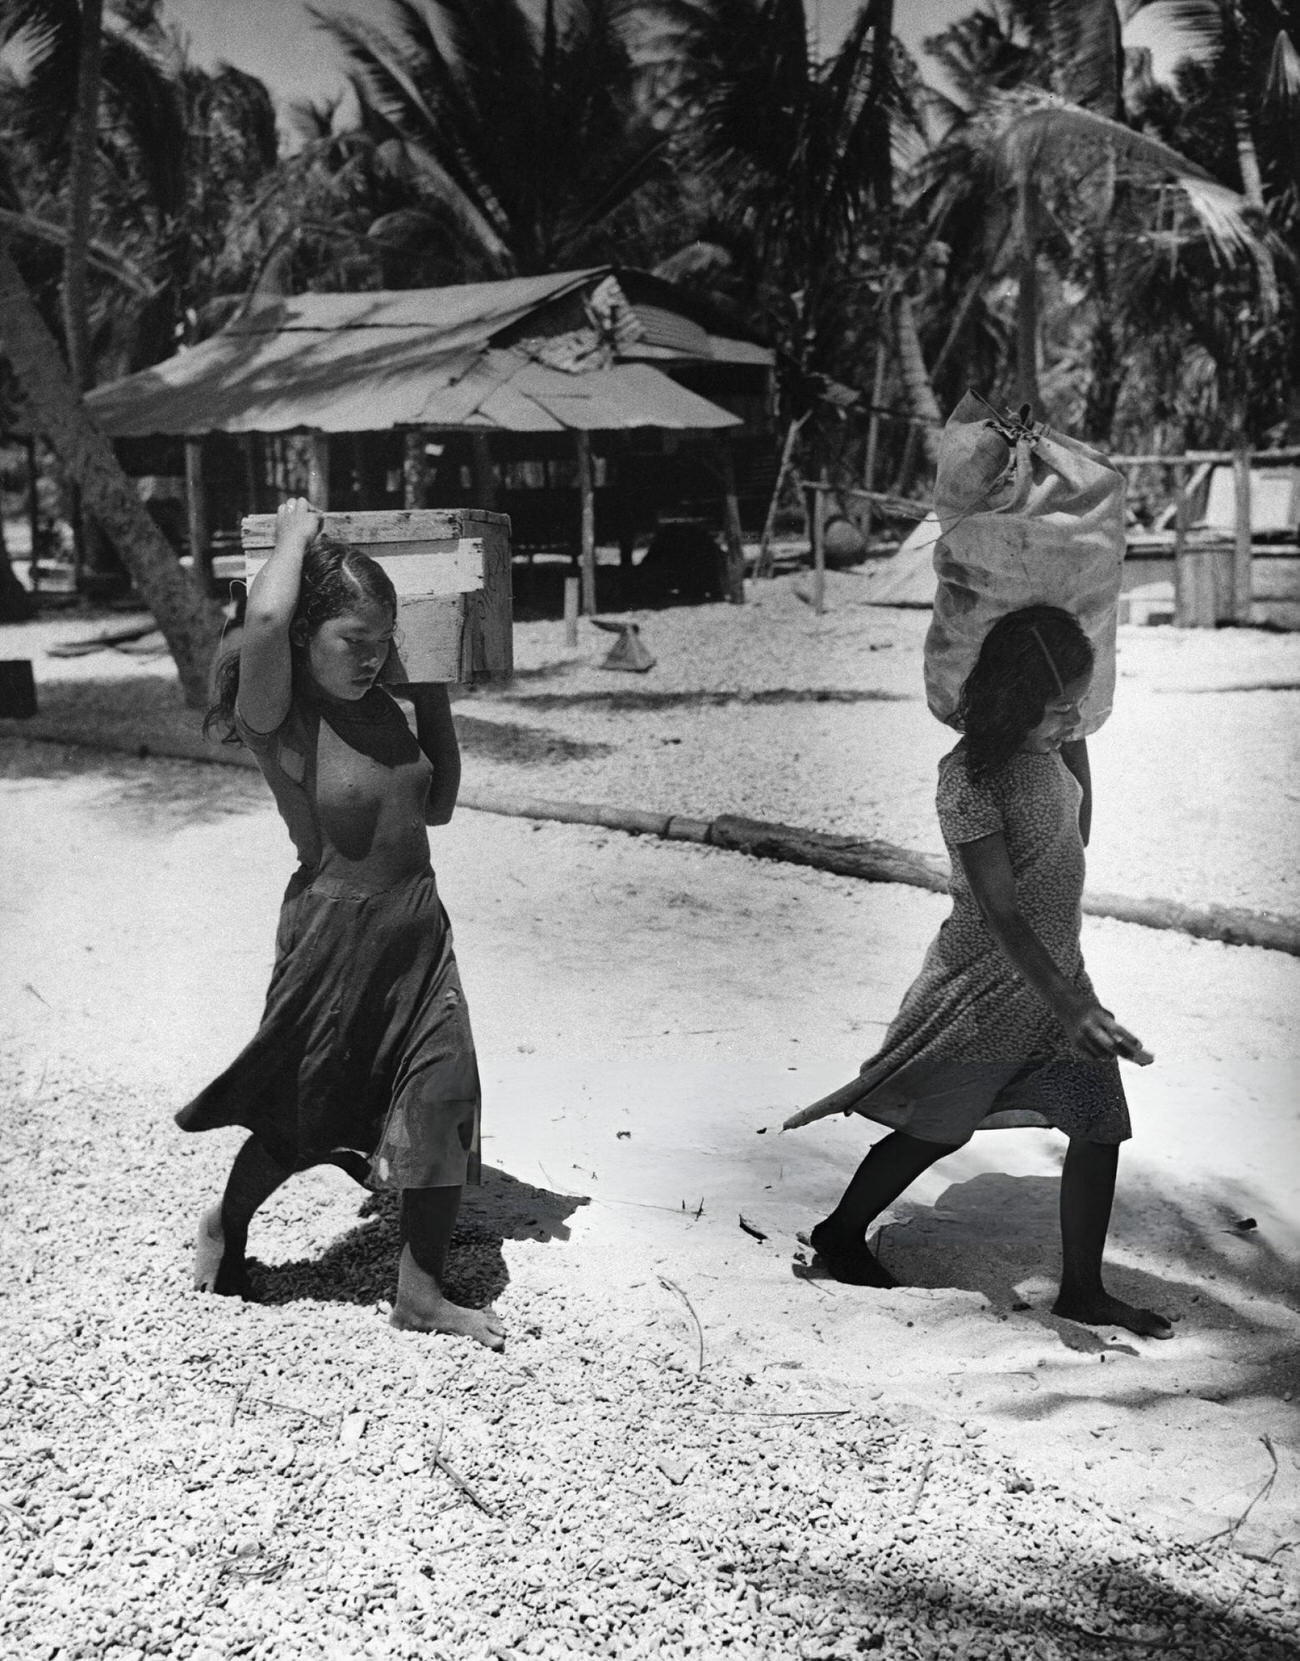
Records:
[[[510,520],[480,508],[325,513],[324,532],[369,553],[397,590],[397,648],[407,681],[491,681],[513,671]],[[276,515],[241,525],[244,576],[276,545]]]

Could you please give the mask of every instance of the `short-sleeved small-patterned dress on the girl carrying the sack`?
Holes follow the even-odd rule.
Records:
[[[976,1129],[1056,1126],[1119,1143],[1129,1110],[1119,1063],[1091,1061],[993,938],[958,849],[996,830],[1006,839],[1016,897],[1056,967],[1092,993],[1083,962],[1081,789],[1058,752],[1019,751],[973,779],[965,744],[938,769],[936,807],[951,860],[953,910],[862,1066],[868,1093],[853,1111],[921,1141],[960,1146]]]

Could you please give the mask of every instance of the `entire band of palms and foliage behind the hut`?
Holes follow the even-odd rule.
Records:
[[[970,384],[1109,445],[1300,437],[1300,0],[971,0],[918,56],[895,0],[835,42],[807,0],[322,3],[347,90],[289,141],[161,0],[100,7],[0,0],[0,244],[73,390],[257,294],[608,261],[770,341],[774,447],[843,482],[870,443],[921,493]]]

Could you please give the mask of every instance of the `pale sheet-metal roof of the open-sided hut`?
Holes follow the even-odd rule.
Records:
[[[302,294],[100,387],[86,402],[115,439],[294,429],[739,425],[644,362],[568,374],[516,349],[491,347],[495,334],[601,277],[603,269],[392,294]],[[707,336],[704,342],[709,360]],[[754,362],[750,352],[770,362],[762,347],[724,360]],[[689,360],[701,359],[692,354]]]

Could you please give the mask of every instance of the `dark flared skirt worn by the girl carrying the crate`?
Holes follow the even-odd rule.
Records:
[[[455,1188],[480,1179],[478,1110],[470,1015],[433,872],[379,894],[299,872],[281,907],[262,1023],[176,1123],[242,1124],[296,1171],[330,1161],[355,1171],[360,1154],[367,1188]]]

